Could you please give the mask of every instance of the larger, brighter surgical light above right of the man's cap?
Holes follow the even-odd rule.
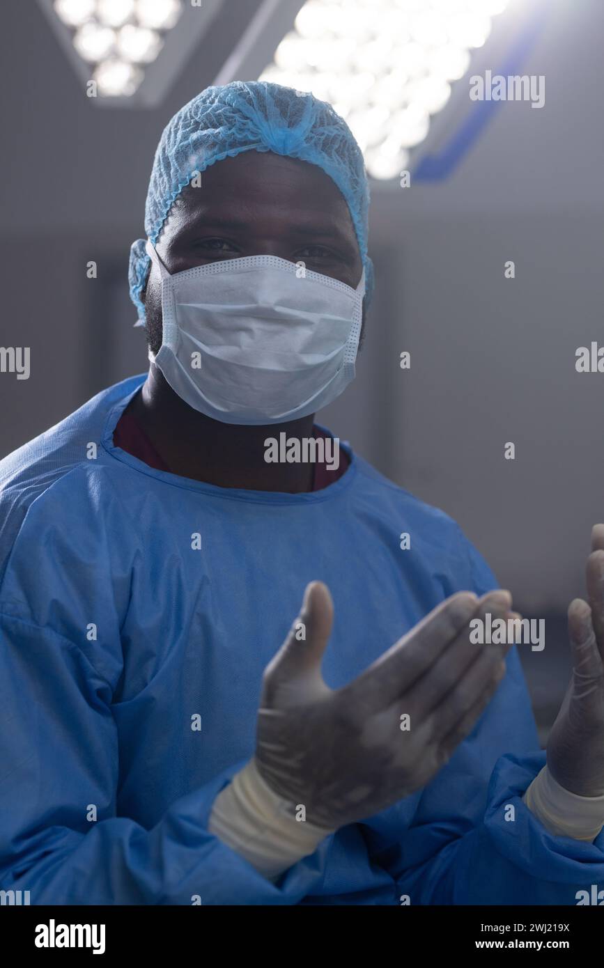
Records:
[[[329,101],[361,145],[369,173],[395,178],[507,3],[307,0],[260,80]]]

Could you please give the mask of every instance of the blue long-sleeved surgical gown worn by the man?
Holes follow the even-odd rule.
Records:
[[[544,753],[515,652],[424,790],[276,884],[208,832],[307,582],[334,599],[333,687],[446,596],[496,582],[450,518],[351,451],[309,494],[147,467],[112,440],[143,379],[0,464],[0,887],[32,904],[571,905],[604,885],[604,834],[553,836],[522,802]]]

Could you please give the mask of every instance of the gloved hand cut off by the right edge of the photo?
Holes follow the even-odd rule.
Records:
[[[573,674],[547,744],[548,770],[579,797],[604,795],[604,525],[591,530],[588,602],[568,609]]]

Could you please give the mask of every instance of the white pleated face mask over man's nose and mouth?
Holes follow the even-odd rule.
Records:
[[[162,277],[155,362],[190,407],[231,424],[314,413],[354,378],[365,272],[356,289],[276,256],[231,258]]]

